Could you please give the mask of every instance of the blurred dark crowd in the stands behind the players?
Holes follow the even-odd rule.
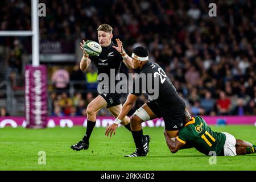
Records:
[[[77,64],[79,42],[97,41],[102,23],[113,27],[114,39],[121,39],[129,54],[139,45],[149,49],[150,60],[165,69],[192,114],[256,114],[255,1],[217,1],[217,17],[208,16],[210,1],[199,0],[40,2],[47,7],[40,18],[40,63],[48,67],[49,115],[85,115],[97,96],[86,82],[95,68],[81,72]],[[25,0],[1,1],[0,30],[31,30],[30,6]],[[24,115],[31,38],[0,37],[0,63],[0,106],[10,115]],[[69,74],[64,88],[51,80],[60,68]],[[122,67],[122,72],[129,71]]]

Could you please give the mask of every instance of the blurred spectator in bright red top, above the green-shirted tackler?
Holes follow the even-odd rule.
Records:
[[[228,97],[226,97],[225,92],[220,92],[220,98],[217,100],[217,113],[220,115],[229,115],[231,109],[231,102]]]

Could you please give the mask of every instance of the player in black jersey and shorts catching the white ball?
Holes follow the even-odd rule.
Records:
[[[119,73],[122,62],[127,66],[127,68],[133,68],[133,64],[131,63],[131,59],[127,56],[126,52],[123,50],[122,42],[119,39],[116,39],[117,45],[112,42],[113,28],[109,24],[101,24],[98,29],[98,42],[102,47],[102,52],[99,56],[89,56],[83,48],[83,42],[80,43],[80,47],[82,52],[84,53],[81,61],[80,61],[80,69],[85,71],[90,63],[93,63],[97,70],[98,75],[101,73],[106,73],[110,77],[110,69],[114,69],[115,76]],[[110,80],[110,79],[109,79]],[[118,81],[115,81],[117,84]],[[114,84],[114,86],[115,86]],[[105,88],[110,91],[109,88]],[[119,93],[101,93],[99,96],[94,98],[92,102],[88,105],[86,109],[87,113],[87,127],[86,133],[82,140],[71,146],[73,150],[87,150],[89,147],[89,138],[92,134],[93,128],[96,124],[96,113],[107,107],[110,113],[117,118],[119,112],[121,111],[122,105],[120,101],[121,94]],[[121,124],[125,126],[128,130],[131,131],[130,127],[130,118],[124,117],[122,119]]]

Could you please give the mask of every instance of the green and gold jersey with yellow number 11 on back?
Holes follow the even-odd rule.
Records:
[[[226,135],[212,131],[203,118],[196,116],[186,123],[176,137],[181,143],[189,142],[199,152],[209,155],[215,151],[217,155],[224,155]]]

